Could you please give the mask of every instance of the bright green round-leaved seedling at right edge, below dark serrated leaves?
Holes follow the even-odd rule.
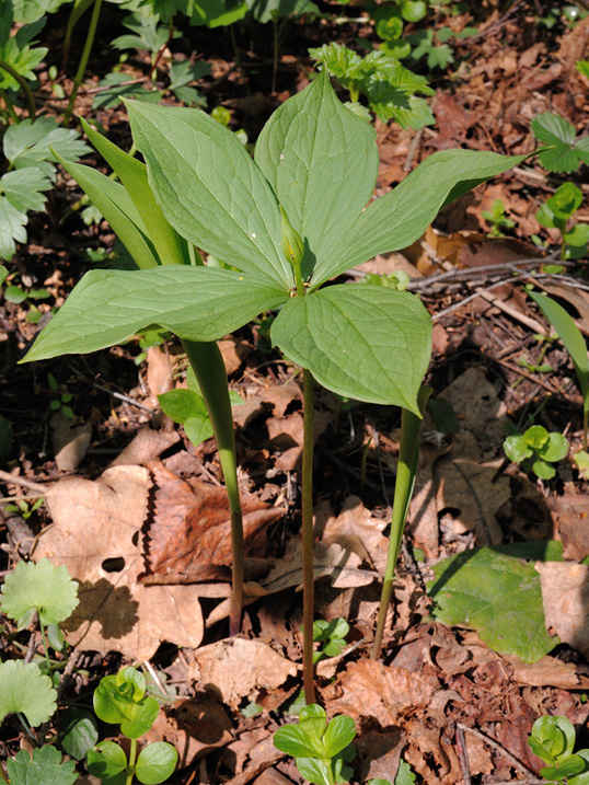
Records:
[[[588,137],[589,138],[589,137]],[[561,258],[582,258],[587,255],[589,223],[569,226],[582,201],[582,192],[574,183],[564,183],[553,196],[536,210],[539,223],[547,229],[557,229],[562,235]]]

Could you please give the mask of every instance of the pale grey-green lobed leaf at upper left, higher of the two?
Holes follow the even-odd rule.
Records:
[[[37,165],[46,177],[54,180],[56,153],[68,161],[77,161],[90,152],[88,145],[76,130],[60,128],[51,117],[21,120],[8,127],[4,134],[4,155],[15,169]]]

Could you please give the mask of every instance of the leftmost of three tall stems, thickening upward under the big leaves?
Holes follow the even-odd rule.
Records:
[[[243,608],[243,521],[238,482],[233,415],[227,384],[227,371],[221,351],[216,343],[183,340],[182,344],[209,413],[229,497],[233,557],[229,633],[230,635],[236,635],[241,630]]]

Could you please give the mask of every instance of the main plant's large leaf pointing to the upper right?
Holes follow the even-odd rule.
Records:
[[[317,264],[313,286],[377,254],[407,247],[421,236],[441,207],[526,158],[475,150],[434,153],[354,221],[330,258]]]

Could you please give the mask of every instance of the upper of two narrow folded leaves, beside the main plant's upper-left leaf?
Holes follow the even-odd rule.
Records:
[[[165,220],[151,193],[146,164],[99,134],[84,119],[81,123],[90,141],[119,176],[143,220],[160,262],[162,264],[189,264],[186,241]],[[103,215],[106,216],[106,213]],[[130,253],[132,254],[132,250]]]

